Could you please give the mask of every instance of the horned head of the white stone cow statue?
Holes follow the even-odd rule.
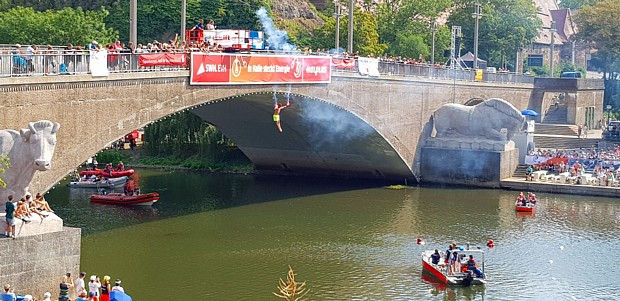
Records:
[[[20,130],[20,135],[30,147],[31,158],[34,158],[34,168],[45,171],[52,168],[52,156],[56,148],[56,132],[59,123],[41,120],[28,123],[28,129]]]

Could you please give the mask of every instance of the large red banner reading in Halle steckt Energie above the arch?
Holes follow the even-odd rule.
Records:
[[[331,58],[192,53],[191,85],[331,82]]]

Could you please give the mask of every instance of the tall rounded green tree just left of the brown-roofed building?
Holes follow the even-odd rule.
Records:
[[[461,26],[463,51],[474,52],[475,0],[457,0],[448,19],[450,26]],[[514,61],[518,50],[532,43],[542,26],[538,9],[531,0],[491,0],[480,8],[478,57],[490,66]],[[462,51],[462,52],[463,52]]]

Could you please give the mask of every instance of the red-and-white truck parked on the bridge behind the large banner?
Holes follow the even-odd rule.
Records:
[[[185,40],[209,42],[221,45],[224,51],[250,51],[265,49],[265,35],[262,31],[247,29],[194,29],[185,31]]]

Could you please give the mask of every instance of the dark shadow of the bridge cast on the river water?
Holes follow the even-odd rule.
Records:
[[[264,202],[377,188],[390,183],[340,177],[213,174],[139,169],[143,193],[158,192],[153,206],[90,203],[96,189],[69,188],[63,181],[45,197],[66,226],[92,234],[135,224]],[[393,183],[392,183],[393,184]],[[114,190],[114,189],[113,189]],[[114,192],[122,192],[117,187]]]

